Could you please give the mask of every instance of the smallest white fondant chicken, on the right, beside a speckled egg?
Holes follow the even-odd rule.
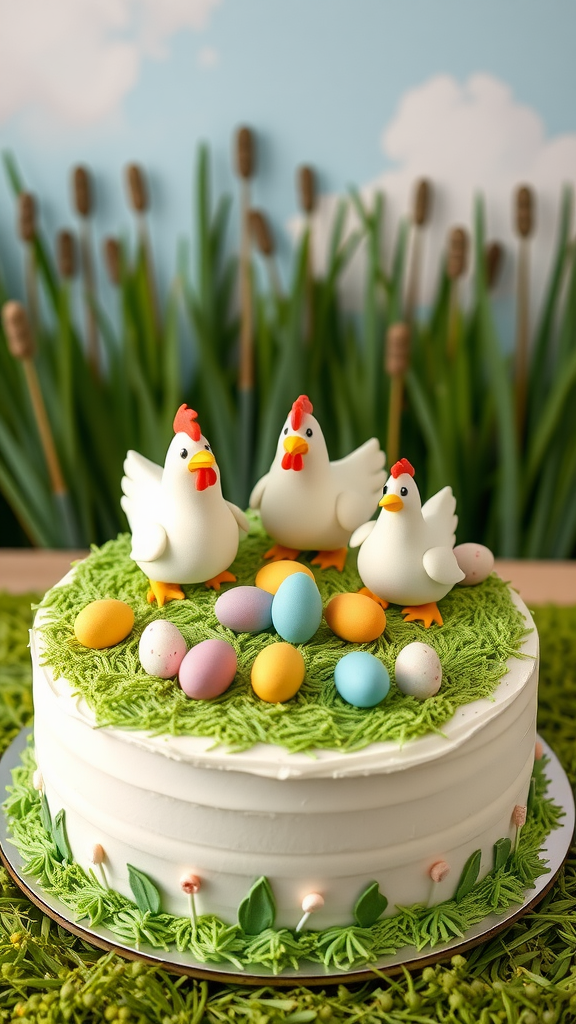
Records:
[[[403,604],[405,622],[442,626],[437,605],[464,573],[454,555],[456,500],[443,487],[421,505],[414,470],[407,459],[390,469],[375,521],[365,522],[351,538],[358,548],[362,582],[384,607]]]

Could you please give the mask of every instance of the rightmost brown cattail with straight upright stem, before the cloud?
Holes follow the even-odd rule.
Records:
[[[519,234],[516,326],[516,425],[522,444],[528,389],[528,332],[530,308],[530,237],[534,229],[534,196],[528,185],[516,194],[516,229]]]

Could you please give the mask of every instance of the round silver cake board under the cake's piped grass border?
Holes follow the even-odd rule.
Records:
[[[0,761],[2,794],[6,786],[11,784],[12,769],[20,762],[20,756],[27,745],[30,732],[30,729],[23,729]],[[245,985],[293,986],[294,984],[302,984],[310,986],[336,984],[341,981],[369,981],[378,973],[399,974],[403,968],[420,970],[431,964],[437,964],[439,961],[447,959],[455,953],[463,953],[481,942],[490,941],[499,932],[509,928],[525,913],[532,910],[551,889],[570,849],[574,831],[575,809],[572,788],[564,768],[548,744],[544,740],[540,741],[544,753],[549,758],[549,763],[546,765],[546,776],[549,781],[547,797],[563,808],[564,816],[561,818],[559,827],[547,836],[542,845],[541,856],[547,861],[548,870],[536,879],[534,888],[527,891],[524,903],[512,905],[502,913],[490,914],[478,925],[469,928],[464,938],[454,938],[449,942],[435,946],[434,949],[427,948],[421,951],[418,951],[414,946],[404,946],[397,953],[381,956],[374,963],[353,971],[338,971],[335,968],[325,968],[322,964],[306,963],[300,970],[296,971],[290,968],[283,971],[281,975],[274,975],[265,968],[241,970],[231,964],[207,966],[193,959],[190,953],[180,953],[177,950],[169,952],[163,949],[157,950],[145,943],[141,943],[138,948],[126,945],[119,942],[117,936],[107,928],[99,925],[90,928],[88,925],[76,921],[71,916],[72,911],[65,903],[45,893],[34,879],[26,874],[23,858],[10,842],[5,813],[0,815],[0,857],[18,888],[32,903],[48,914],[52,921],[85,942],[90,942],[100,949],[118,953],[127,959],[141,961],[175,974],[236,985],[241,983]]]

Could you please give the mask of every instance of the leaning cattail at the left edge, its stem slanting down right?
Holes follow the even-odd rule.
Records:
[[[35,346],[30,322],[24,306],[19,302],[6,302],[2,308],[2,324],[11,355],[22,362],[30,402],[44,452],[50,487],[56,513],[61,522],[65,547],[78,547],[79,535],[76,516],[72,506],[68,486],[61,471],[59,459],[54,444],[54,438],[46,413],[40,381],[34,365]]]

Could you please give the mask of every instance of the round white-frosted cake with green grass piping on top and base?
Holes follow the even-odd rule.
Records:
[[[254,584],[268,546],[252,513],[239,585]],[[357,591],[355,555],[316,580],[324,605]],[[444,625],[425,633],[390,607],[385,634],[362,645],[392,677],[369,709],[335,690],[334,666],[358,645],[324,621],[299,646],[296,696],[259,700],[250,668],[274,631],[233,634],[214,592],[183,590],[182,601],[149,604],[122,536],[76,566],[36,617],[34,748],[8,811],[29,869],[77,918],[136,945],[173,943],[194,962],[278,972],[431,946],[522,901],[545,869],[535,853],[553,813],[535,764],[537,634],[506,584],[492,574],[456,587],[441,602]],[[110,650],[83,648],[75,617],[105,598],[127,602],[134,628]],[[138,639],[157,617],[189,645],[234,645],[224,693],[189,699],[177,680],[146,675]],[[427,700],[394,682],[398,652],[422,639],[444,672]]]

